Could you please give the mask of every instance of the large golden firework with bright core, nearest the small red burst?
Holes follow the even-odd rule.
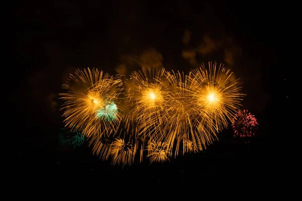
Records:
[[[219,132],[228,126],[234,114],[241,106],[244,94],[240,93],[239,79],[234,77],[230,69],[220,64],[209,62],[209,68],[201,65],[189,74],[190,92],[193,94],[192,107],[202,111],[207,118],[211,118],[212,126],[207,129]],[[203,124],[200,125],[203,127]]]

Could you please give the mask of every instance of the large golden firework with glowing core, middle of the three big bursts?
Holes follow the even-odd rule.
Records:
[[[163,68],[142,68],[131,73],[126,95],[127,108],[130,109],[125,118],[128,132],[144,137],[161,132],[168,92],[162,82],[164,74]]]

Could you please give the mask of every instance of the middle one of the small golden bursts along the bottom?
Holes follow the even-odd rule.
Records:
[[[169,161],[169,157],[172,155],[169,145],[164,142],[149,141],[147,151],[150,163]]]

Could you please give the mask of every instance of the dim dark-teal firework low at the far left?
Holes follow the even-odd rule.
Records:
[[[80,147],[85,141],[83,133],[75,128],[61,128],[58,139],[61,145],[67,145],[72,148]]]

